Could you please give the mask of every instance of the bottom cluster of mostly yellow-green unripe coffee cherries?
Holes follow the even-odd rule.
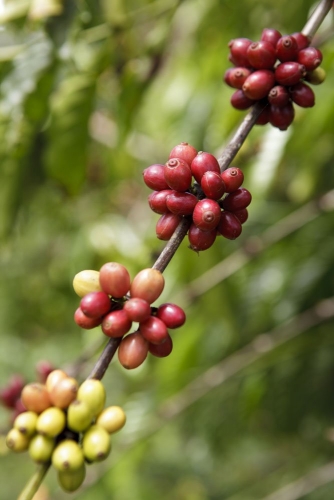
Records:
[[[62,489],[75,491],[84,481],[86,464],[107,458],[110,434],[125,424],[123,409],[105,408],[105,400],[100,380],[79,386],[63,370],[53,370],[45,384],[23,387],[25,411],[15,418],[6,444],[15,452],[28,451],[38,464],[51,463]]]

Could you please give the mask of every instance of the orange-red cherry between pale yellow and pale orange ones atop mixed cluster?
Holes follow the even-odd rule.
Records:
[[[107,262],[100,269],[100,285],[108,295],[121,298],[130,288],[129,272],[118,262]]]

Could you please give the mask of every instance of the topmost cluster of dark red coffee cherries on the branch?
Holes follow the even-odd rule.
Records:
[[[232,106],[244,110],[262,101],[264,109],[257,124],[270,123],[286,130],[295,116],[294,103],[303,108],[314,106],[314,92],[305,82],[318,85],[325,79],[319,67],[322,53],[310,43],[303,33],[282,36],[268,28],[258,42],[231,40],[229,60],[235,67],[226,71],[224,81],[237,89]]]

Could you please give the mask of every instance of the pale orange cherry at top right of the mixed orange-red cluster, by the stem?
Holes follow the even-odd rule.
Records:
[[[165,278],[157,269],[142,269],[134,277],[130,286],[131,298],[138,297],[152,304],[160,297],[165,286]]]

